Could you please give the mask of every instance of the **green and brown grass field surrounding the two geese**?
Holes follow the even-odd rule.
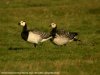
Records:
[[[34,48],[20,36],[21,20],[46,32],[57,23],[78,32],[82,42]],[[100,0],[0,0],[0,72],[100,75]]]

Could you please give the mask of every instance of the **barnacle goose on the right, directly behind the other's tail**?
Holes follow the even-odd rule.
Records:
[[[51,32],[50,35],[52,38],[50,39],[52,43],[56,45],[66,45],[71,41],[79,41],[76,36],[78,33],[76,32],[66,32],[65,30],[58,30],[57,25],[55,23],[51,23]]]

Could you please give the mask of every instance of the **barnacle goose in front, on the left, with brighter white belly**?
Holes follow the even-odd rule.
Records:
[[[20,21],[18,23],[18,25],[23,26],[23,30],[21,32],[22,39],[24,39],[25,41],[28,41],[30,43],[33,43],[34,47],[36,47],[36,45],[39,42],[44,42],[44,41],[51,39],[50,35],[45,32],[41,32],[36,29],[28,30],[27,24],[25,21]]]

